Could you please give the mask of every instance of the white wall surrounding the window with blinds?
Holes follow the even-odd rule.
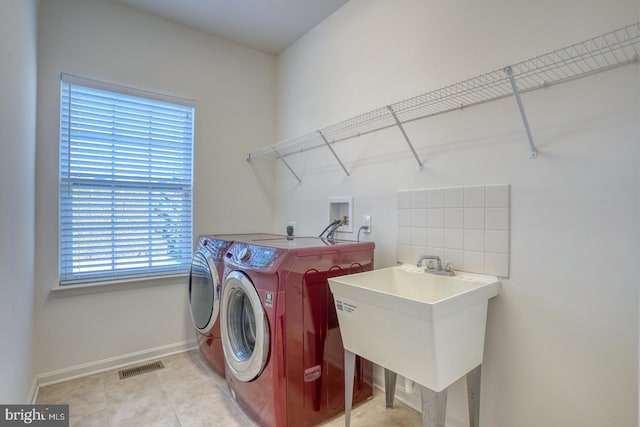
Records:
[[[43,1],[39,20],[36,357],[38,373],[56,379],[195,339],[186,278],[86,295],[50,292],[58,280],[60,73],[195,100],[197,238],[272,224],[272,174],[256,183],[259,166],[244,158],[275,138],[275,57],[107,1]]]

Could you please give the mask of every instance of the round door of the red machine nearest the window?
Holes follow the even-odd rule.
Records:
[[[213,257],[206,249],[193,254],[189,274],[191,320],[198,331],[211,330],[220,311],[220,280]]]

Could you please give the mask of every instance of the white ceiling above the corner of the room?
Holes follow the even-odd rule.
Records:
[[[278,54],[348,0],[113,0]]]

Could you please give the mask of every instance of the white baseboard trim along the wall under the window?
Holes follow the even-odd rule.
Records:
[[[68,381],[75,378],[86,377],[88,375],[100,372],[111,371],[131,365],[148,362],[152,359],[171,356],[177,353],[183,353],[198,348],[196,340],[183,341],[174,344],[163,345],[160,347],[150,348],[146,350],[136,351],[134,353],[123,354],[121,356],[110,357],[95,362],[83,363],[69,368],[59,369],[56,371],[45,372],[37,375],[34,379],[34,390],[32,390],[32,401],[37,398],[38,389],[51,384],[62,381]]]

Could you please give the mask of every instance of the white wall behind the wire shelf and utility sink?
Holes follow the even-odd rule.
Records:
[[[295,137],[638,20],[635,0],[351,0],[278,57],[278,136]],[[637,424],[640,273],[638,66],[523,101],[540,149],[528,158],[505,99],[289,158],[275,227],[327,223],[327,198],[372,215],[376,265],[395,261],[398,190],[511,185],[510,277],[490,303],[481,425]],[[357,228],[357,227],[356,227]],[[355,237],[344,235],[343,237]],[[466,423],[464,384],[449,426]]]

